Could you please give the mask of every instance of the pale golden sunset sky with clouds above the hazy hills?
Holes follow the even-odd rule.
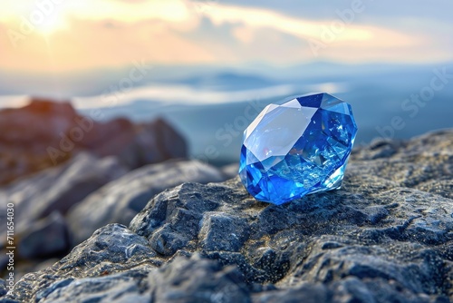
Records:
[[[0,72],[453,59],[453,2],[2,0]]]

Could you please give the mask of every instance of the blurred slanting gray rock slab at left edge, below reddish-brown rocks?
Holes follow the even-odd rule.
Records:
[[[72,205],[127,172],[114,157],[98,159],[82,152],[71,161],[0,188],[0,200],[14,203],[14,233],[25,237],[37,220]],[[6,226],[6,203],[0,204],[0,226]],[[6,239],[1,230],[1,240]]]

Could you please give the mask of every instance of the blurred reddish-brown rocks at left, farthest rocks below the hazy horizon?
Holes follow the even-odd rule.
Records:
[[[41,99],[0,111],[0,185],[63,163],[81,151],[116,156],[130,169],[187,156],[185,140],[167,122],[97,122],[99,112],[82,116],[70,103]]]

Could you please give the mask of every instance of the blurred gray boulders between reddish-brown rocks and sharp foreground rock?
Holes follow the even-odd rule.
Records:
[[[30,179],[0,189],[14,203],[16,277],[61,258],[92,232],[109,223],[129,224],[149,199],[184,182],[225,181],[222,171],[200,161],[165,161],[128,172],[117,158],[80,153]],[[2,210],[3,208],[3,210]],[[0,224],[6,224],[6,203]],[[6,230],[1,239],[6,239]],[[5,243],[0,241],[0,244]],[[5,269],[0,247],[0,271]]]

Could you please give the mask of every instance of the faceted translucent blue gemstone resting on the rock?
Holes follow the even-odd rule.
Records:
[[[269,104],[244,132],[239,176],[274,204],[339,189],[356,132],[351,105],[329,93]]]

